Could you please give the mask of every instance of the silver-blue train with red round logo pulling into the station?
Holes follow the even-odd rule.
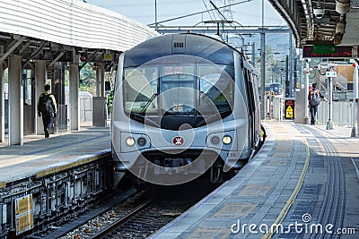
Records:
[[[258,73],[236,48],[195,33],[149,38],[118,57],[111,116],[114,185],[211,184],[260,143]]]

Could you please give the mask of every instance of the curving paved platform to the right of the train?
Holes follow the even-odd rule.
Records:
[[[256,157],[151,238],[358,238],[359,140],[351,129],[264,125]]]

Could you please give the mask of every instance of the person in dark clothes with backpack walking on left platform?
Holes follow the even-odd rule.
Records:
[[[49,130],[54,124],[54,119],[57,117],[57,103],[53,94],[50,93],[50,86],[45,85],[45,92],[39,96],[38,100],[38,115],[42,116],[42,123],[44,124],[45,138],[49,137]]]

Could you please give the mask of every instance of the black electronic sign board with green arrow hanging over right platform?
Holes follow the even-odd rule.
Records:
[[[303,46],[303,58],[352,58],[351,46],[313,45]]]

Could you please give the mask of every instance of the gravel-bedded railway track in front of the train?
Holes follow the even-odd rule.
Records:
[[[170,223],[215,187],[180,185],[150,186],[132,194],[125,201],[60,237],[83,238],[145,238]]]

